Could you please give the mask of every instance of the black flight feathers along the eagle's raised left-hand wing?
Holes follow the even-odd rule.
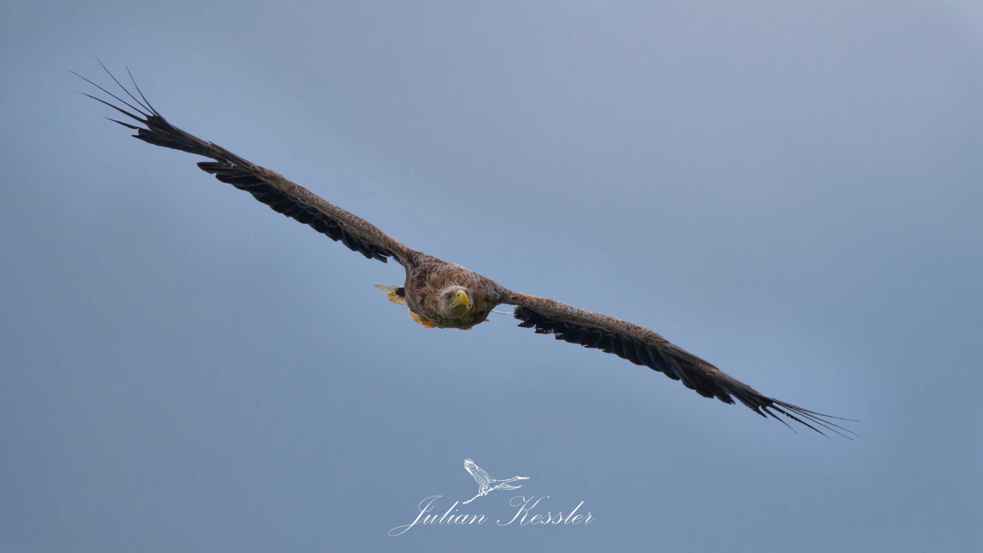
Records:
[[[102,62],[100,61],[99,64],[102,65]],[[203,171],[215,175],[215,178],[218,180],[231,184],[239,190],[249,192],[254,198],[269,206],[273,211],[303,222],[321,234],[324,234],[332,240],[341,242],[348,249],[358,252],[369,259],[376,259],[382,263],[385,263],[389,257],[393,257],[393,254],[386,248],[359,238],[349,230],[346,230],[345,227],[337,220],[325,215],[316,207],[301,201],[297,197],[277,190],[273,185],[257,177],[254,171],[250,170],[250,168],[253,166],[253,163],[250,161],[236,154],[232,154],[231,152],[215,144],[203,141],[202,139],[182,131],[169,123],[162,115],[160,115],[159,112],[157,112],[156,109],[150,105],[150,102],[146,101],[144,92],[141,92],[140,88],[137,87],[136,81],[133,81],[133,75],[130,75],[130,79],[133,81],[133,86],[135,89],[137,89],[137,92],[140,94],[142,99],[138,99],[134,94],[128,91],[122,83],[113,77],[112,73],[110,73],[104,65],[102,68],[105,69],[106,73],[110,78],[112,78],[116,85],[118,85],[123,92],[126,92],[126,94],[137,105],[134,105],[120,96],[103,89],[74,71],[72,73],[75,73],[75,75],[85,80],[88,84],[102,92],[109,94],[123,105],[140,114],[137,115],[130,110],[114,105],[102,98],[82,92],[88,97],[100,101],[119,111],[120,113],[134,119],[138,123],[143,124],[145,128],[106,117],[106,119],[109,119],[114,123],[119,123],[124,127],[136,130],[137,134],[133,135],[134,138],[138,138],[145,143],[152,144],[154,146],[162,146],[164,148],[172,148],[174,150],[180,150],[189,154],[198,154],[205,157],[211,157],[215,160],[202,161],[198,163],[198,166]],[[129,71],[130,70],[128,69],[128,74]]]

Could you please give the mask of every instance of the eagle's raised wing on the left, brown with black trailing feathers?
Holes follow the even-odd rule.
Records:
[[[99,63],[101,64],[102,62]],[[105,69],[105,66],[103,66],[103,69]],[[106,73],[109,73],[109,70],[106,70]],[[76,73],[76,75],[79,74]],[[272,208],[273,211],[308,224],[318,232],[327,235],[332,240],[340,241],[350,250],[359,252],[369,259],[377,259],[384,263],[388,258],[395,258],[399,263],[406,265],[405,262],[415,253],[413,250],[393,240],[364,218],[342,210],[327,200],[320,198],[307,188],[287,180],[283,175],[261,167],[236,154],[232,154],[216,144],[203,141],[175,127],[164,119],[150,105],[150,102],[146,101],[144,93],[137,87],[136,82],[133,83],[133,86],[143,101],[137,99],[136,96],[123,87],[111,73],[109,76],[112,77],[113,81],[139,107],[79,75],[79,77],[85,79],[90,85],[109,94],[133,111],[140,113],[140,115],[137,115],[119,105],[114,105],[109,101],[97,98],[91,94],[86,94],[88,97],[101,101],[144,125],[144,127],[138,127],[107,117],[110,121],[136,130],[137,134],[133,135],[134,138],[156,146],[173,148],[174,150],[203,155],[214,159],[214,161],[202,161],[198,163],[198,166],[203,171],[215,175],[215,178],[218,180],[231,184],[239,190],[249,192],[254,198]],[[133,81],[132,76],[131,81]]]

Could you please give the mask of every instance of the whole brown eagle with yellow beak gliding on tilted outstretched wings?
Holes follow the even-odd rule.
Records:
[[[106,69],[104,65],[102,68]],[[273,211],[311,226],[367,259],[383,263],[390,259],[395,261],[405,270],[405,281],[401,285],[376,286],[386,292],[389,300],[406,305],[410,317],[427,328],[469,330],[487,321],[495,306],[512,305],[513,314],[520,321],[519,327],[535,329],[537,334],[551,334],[556,339],[600,349],[636,365],[645,365],[682,382],[683,386],[704,398],[717,398],[724,403],[733,403],[737,399],[761,416],[771,416],[789,428],[791,426],[776,413],[823,435],[825,433],[817,427],[844,437],[840,431],[852,433],[831,420],[852,419],[825,415],[769,398],[649,329],[553,299],[510,290],[459,265],[409,248],[366,219],[346,212],[280,173],[175,127],[146,100],[132,74],[130,80],[141,99],[127,90],[108,69],[106,73],[137,105],[78,73],[76,75],[132,111],[91,94],[86,94],[88,97],[143,126],[106,119],[137,131],[132,136],[146,143],[208,157],[210,161],[198,163],[202,171],[252,194]]]

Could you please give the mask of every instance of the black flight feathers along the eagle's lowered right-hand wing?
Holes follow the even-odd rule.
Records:
[[[817,413],[780,401],[779,399],[768,398],[750,386],[717,369],[707,361],[671,343],[665,342],[662,346],[651,345],[627,333],[617,333],[588,325],[562,321],[538,313],[522,305],[516,305],[514,317],[522,321],[519,323],[520,327],[535,329],[536,334],[551,334],[556,339],[576,343],[584,347],[600,349],[605,353],[613,353],[622,359],[627,359],[636,365],[645,365],[650,369],[665,374],[665,376],[672,380],[682,382],[683,386],[696,391],[697,394],[704,398],[717,398],[724,403],[733,403],[733,399],[736,398],[761,416],[772,416],[785,426],[788,426],[788,424],[772,411],[783,414],[791,420],[803,424],[824,436],[826,434],[816,428],[816,426],[813,426],[813,424],[836,432],[846,438],[849,438],[849,436],[846,436],[840,430],[853,434],[853,432],[829,420],[850,419]],[[707,368],[712,370],[708,371]],[[789,428],[791,427],[789,426]]]

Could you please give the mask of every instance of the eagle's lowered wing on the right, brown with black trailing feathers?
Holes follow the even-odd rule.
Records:
[[[841,436],[845,434],[840,431],[853,434],[830,420],[851,419],[817,413],[764,396],[713,364],[644,327],[519,292],[507,292],[502,303],[515,306],[515,318],[522,321],[519,323],[520,327],[535,328],[537,334],[552,334],[556,339],[601,349],[636,365],[645,365],[672,380],[682,381],[683,386],[695,390],[705,398],[717,398],[724,403],[733,403],[736,398],[761,416],[766,416],[767,413],[786,426],[788,424],[776,416],[773,410],[820,434],[823,432],[813,424]]]

